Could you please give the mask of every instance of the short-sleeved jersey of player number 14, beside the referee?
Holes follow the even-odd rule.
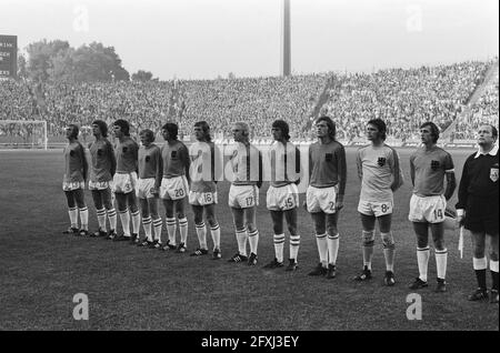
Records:
[[[454,169],[450,153],[439,147],[430,151],[421,147],[411,154],[410,163],[414,169],[416,195],[424,198],[444,193],[444,174]]]

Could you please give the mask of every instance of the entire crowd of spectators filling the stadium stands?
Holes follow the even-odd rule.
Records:
[[[46,120],[49,135],[62,135],[70,122],[89,125],[96,119],[108,123],[127,119],[133,131],[158,131],[164,122],[176,121],[182,135],[191,133],[196,121],[207,120],[219,138],[230,135],[234,121],[248,122],[252,137],[269,137],[272,121],[283,119],[292,138],[304,140],[311,138],[310,122],[319,111],[337,122],[339,139],[362,139],[366,122],[381,118],[388,134],[404,141],[416,138],[424,121],[441,130],[449,127],[492,63],[194,81],[37,85],[0,81],[0,119]],[[479,121],[498,124],[498,74],[472,111],[457,122],[456,138]]]

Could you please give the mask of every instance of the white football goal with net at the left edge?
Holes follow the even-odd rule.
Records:
[[[0,120],[0,148],[47,150],[47,121]]]

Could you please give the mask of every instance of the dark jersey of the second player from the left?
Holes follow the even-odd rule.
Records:
[[[112,179],[111,170],[116,164],[111,142],[108,139],[96,140],[90,143],[89,150],[92,158],[90,180],[93,182],[110,181]]]

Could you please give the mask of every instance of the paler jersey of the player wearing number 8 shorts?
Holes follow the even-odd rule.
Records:
[[[399,157],[387,144],[360,148],[356,158],[361,176],[360,200],[369,202],[392,201],[391,185],[394,173],[399,173]]]

